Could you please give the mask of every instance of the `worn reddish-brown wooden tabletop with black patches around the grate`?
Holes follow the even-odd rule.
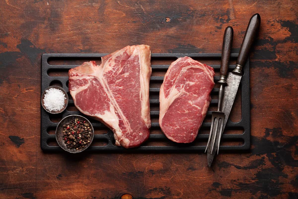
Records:
[[[0,198],[297,198],[297,1],[0,2]],[[43,53],[220,53],[225,27],[238,52],[249,18],[251,150],[190,154],[44,153]],[[235,111],[237,112],[237,110]]]

